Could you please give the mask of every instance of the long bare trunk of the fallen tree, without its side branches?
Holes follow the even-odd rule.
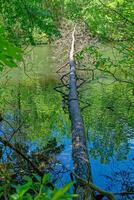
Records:
[[[75,43],[75,28],[72,33],[72,45],[69,56],[69,114],[72,128],[72,156],[74,161],[74,172],[86,181],[92,181],[91,167],[88,156],[88,148],[84,129],[84,122],[80,112],[80,106],[77,95],[77,83],[75,74],[75,62],[73,58]],[[76,194],[79,195],[77,200],[91,200],[93,198],[92,190],[76,180]]]

